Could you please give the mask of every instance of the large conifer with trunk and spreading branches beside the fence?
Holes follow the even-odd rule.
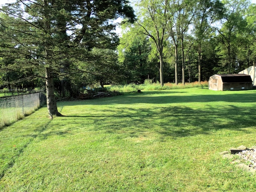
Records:
[[[115,26],[110,21],[119,16],[134,21],[133,10],[127,3],[126,0],[17,0],[3,6],[0,11],[6,16],[0,18],[0,39],[9,40],[12,45],[2,48],[19,53],[19,58],[15,57],[15,62],[5,70],[44,70],[48,113],[51,117],[60,116],[54,96],[54,75],[65,75],[69,68],[65,65],[71,61],[74,64],[76,60],[88,60],[86,52],[91,48],[110,46],[116,40],[112,32]]]

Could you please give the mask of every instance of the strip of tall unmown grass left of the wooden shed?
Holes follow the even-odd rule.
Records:
[[[118,92],[137,92],[137,90],[170,90],[170,89],[184,89],[184,88],[196,88],[196,87],[208,87],[208,81],[204,82],[192,82],[192,83],[179,83],[176,85],[175,83],[165,83],[164,86],[161,86],[159,82],[152,82],[150,79],[146,79],[144,84],[135,84],[130,83],[126,85],[112,85],[108,87],[110,91],[118,91]]]

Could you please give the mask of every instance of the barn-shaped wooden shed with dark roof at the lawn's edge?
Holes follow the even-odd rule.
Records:
[[[216,74],[209,79],[210,90],[248,90],[252,89],[252,78],[246,74]]]

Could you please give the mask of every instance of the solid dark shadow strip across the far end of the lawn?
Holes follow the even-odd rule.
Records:
[[[252,92],[252,94],[250,94]],[[247,94],[194,94],[182,95],[185,92],[147,92],[147,93],[131,93],[113,98],[99,98],[94,100],[80,100],[74,102],[66,102],[65,106],[75,105],[104,105],[104,104],[168,104],[168,103],[193,103],[193,102],[255,102],[255,91],[244,91]],[[182,93],[181,95],[172,95],[173,93]],[[160,95],[162,94],[162,96]],[[167,95],[166,95],[167,94]],[[153,96],[152,96],[153,95]],[[154,96],[155,95],[155,96]]]

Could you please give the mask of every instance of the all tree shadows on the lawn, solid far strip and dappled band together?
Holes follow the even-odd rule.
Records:
[[[198,95],[186,95],[186,92],[182,91],[152,91],[112,98],[60,102],[62,108],[74,106],[72,114],[67,115],[63,112],[64,116],[52,122],[51,130],[41,133],[40,137],[42,139],[53,135],[65,137],[67,134],[72,134],[72,130],[82,128],[106,134],[130,134],[131,137],[154,132],[175,139],[197,134],[212,134],[213,130],[221,129],[246,132],[245,128],[255,126],[255,105],[249,104],[248,107],[244,107],[243,104],[235,104],[235,102],[255,102],[255,91],[246,91],[244,92],[246,94],[215,92],[220,95],[208,94],[208,90],[205,91],[206,94]],[[220,103],[214,106],[214,102],[228,102],[228,104],[224,107]],[[204,103],[201,108],[196,106],[200,103]],[[116,104],[121,105],[116,106]],[[149,105],[144,108],[143,104],[168,105]],[[76,111],[78,105],[80,107]],[[96,105],[92,113],[87,110],[88,105]]]

